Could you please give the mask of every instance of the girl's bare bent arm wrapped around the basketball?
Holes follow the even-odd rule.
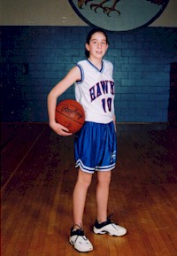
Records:
[[[71,136],[68,128],[58,124],[55,119],[57,99],[62,95],[66,89],[73,85],[75,81],[81,80],[81,71],[78,66],[74,66],[71,71],[65,75],[65,78],[58,82],[58,84],[50,90],[48,95],[48,114],[50,128],[52,128],[60,136]]]

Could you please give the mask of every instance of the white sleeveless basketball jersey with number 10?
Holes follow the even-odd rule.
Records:
[[[87,121],[109,123],[114,114],[114,81],[112,63],[103,60],[98,70],[88,59],[77,63],[81,81],[75,82],[75,98],[85,110]]]

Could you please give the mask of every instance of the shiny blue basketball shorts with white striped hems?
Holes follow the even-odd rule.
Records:
[[[113,121],[108,124],[86,121],[74,139],[75,167],[93,174],[116,165],[117,139]]]

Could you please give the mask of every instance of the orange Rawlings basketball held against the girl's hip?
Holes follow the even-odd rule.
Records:
[[[85,112],[81,104],[73,99],[65,99],[58,103],[56,121],[69,129],[69,132],[79,131],[85,122]]]

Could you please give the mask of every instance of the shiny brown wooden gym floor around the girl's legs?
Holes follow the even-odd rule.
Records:
[[[68,243],[77,176],[73,136],[57,136],[43,123],[2,124],[1,255],[177,255],[177,128],[119,124],[117,129],[119,161],[112,171],[109,213],[127,235],[92,232],[94,175],[84,213],[94,251],[80,253]]]

